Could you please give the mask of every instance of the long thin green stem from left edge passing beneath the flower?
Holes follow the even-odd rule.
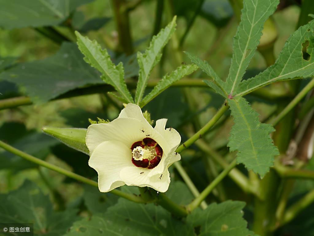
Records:
[[[4,150],[7,150],[8,152],[11,152],[11,153],[13,153],[13,154],[15,154],[17,156],[20,156],[20,157],[24,158],[25,160],[28,160],[28,161],[33,162],[35,164],[38,164],[40,166],[43,166],[43,167],[46,167],[46,168],[51,169],[53,171],[56,171],[58,173],[64,174],[65,176],[68,176],[70,178],[76,179],[76,180],[78,180],[78,181],[80,181],[82,183],[89,184],[89,185],[92,185],[92,186],[98,188],[98,183],[96,181],[94,181],[94,180],[91,180],[89,178],[85,178],[85,177],[83,177],[81,175],[78,175],[78,174],[73,173],[71,171],[65,170],[65,169],[63,169],[61,167],[58,167],[56,165],[53,165],[53,164],[51,164],[49,162],[45,162],[45,161],[43,161],[41,159],[36,158],[35,156],[31,156],[31,155],[29,155],[29,154],[27,154],[27,153],[25,153],[23,151],[18,150],[16,148],[14,148],[14,147],[4,143],[3,141],[0,141],[0,147],[2,147]],[[112,194],[115,194],[115,195],[118,195],[120,197],[126,198],[126,199],[128,199],[130,201],[133,201],[133,202],[145,203],[145,201],[141,197],[135,196],[133,194],[124,193],[124,192],[122,192],[120,190],[116,190],[116,189],[111,190],[110,192]]]

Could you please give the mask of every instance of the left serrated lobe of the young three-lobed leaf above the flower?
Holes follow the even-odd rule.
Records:
[[[78,39],[78,48],[84,54],[84,60],[92,67],[100,71],[101,79],[107,84],[112,85],[118,91],[124,101],[134,103],[131,93],[127,89],[124,81],[124,69],[122,63],[117,66],[112,63],[106,49],[101,49],[100,45],[94,40],[75,32]]]

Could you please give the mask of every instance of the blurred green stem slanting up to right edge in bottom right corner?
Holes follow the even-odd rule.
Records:
[[[287,224],[291,220],[293,220],[303,209],[310,206],[314,202],[314,190],[308,192],[304,197],[302,197],[295,204],[290,206],[284,214],[283,221],[279,226]]]

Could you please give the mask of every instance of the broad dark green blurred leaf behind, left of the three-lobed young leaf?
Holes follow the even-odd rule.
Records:
[[[5,70],[0,80],[16,83],[35,103],[47,102],[77,87],[103,83],[99,73],[84,62],[77,46],[68,42],[51,57]]]

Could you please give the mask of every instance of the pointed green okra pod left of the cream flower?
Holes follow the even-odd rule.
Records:
[[[85,142],[87,129],[43,127],[42,130],[65,145],[89,155]]]

